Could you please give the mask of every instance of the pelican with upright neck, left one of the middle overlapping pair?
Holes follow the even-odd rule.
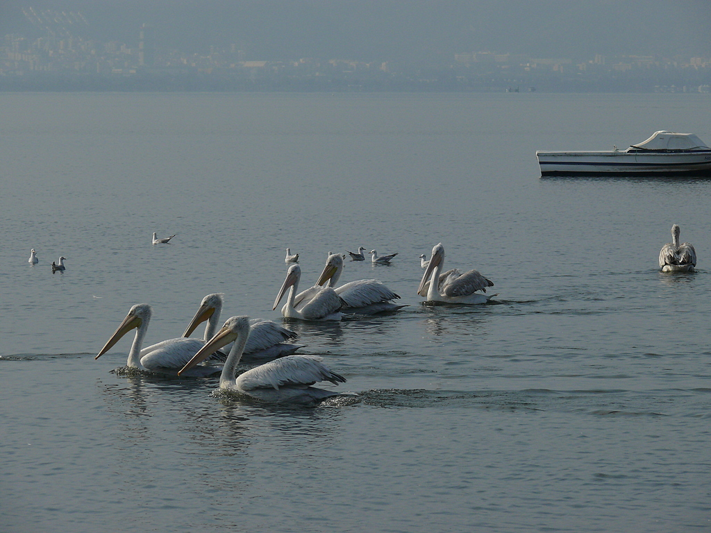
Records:
[[[340,312],[341,307],[343,307],[343,301],[338,298],[336,291],[330,287],[321,289],[314,286],[313,289],[304,291],[299,295],[301,300],[296,302],[296,290],[299,288],[300,278],[301,267],[298,264],[289,266],[287,277],[284,279],[282,288],[279,289],[277,299],[274,300],[272,311],[277,308],[284,293],[289,289],[287,303],[282,307],[282,316],[284,318],[299,318],[304,321],[340,321],[343,318],[343,313]]]

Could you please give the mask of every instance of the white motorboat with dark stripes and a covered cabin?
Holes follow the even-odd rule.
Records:
[[[536,151],[542,176],[561,174],[711,174],[711,148],[694,134],[656,131],[620,151]]]

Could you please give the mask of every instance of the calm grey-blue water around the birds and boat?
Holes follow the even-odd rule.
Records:
[[[0,94],[3,531],[690,532],[711,528],[711,181],[540,179],[536,149],[657,129],[707,95]],[[670,227],[699,269],[658,272]],[[151,246],[151,232],[177,233]],[[496,305],[422,306],[419,254]],[[127,377],[201,298],[271,311],[301,254],[407,303],[292,324],[358,393],[282,409]],[[29,266],[34,248],[40,263]],[[67,270],[51,262],[67,257]]]

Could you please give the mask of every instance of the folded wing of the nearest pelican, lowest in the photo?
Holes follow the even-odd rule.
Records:
[[[289,355],[251,370],[237,377],[237,387],[244,391],[279,389],[279,387],[309,387],[320,382],[345,383],[346,378],[331,372],[315,355]]]

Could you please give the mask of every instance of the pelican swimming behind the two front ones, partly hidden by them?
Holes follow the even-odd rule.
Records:
[[[222,294],[215,293],[205,296],[200,303],[198,312],[195,313],[193,320],[186,328],[185,333],[183,333],[183,337],[188,337],[198,325],[208,321],[208,324],[205,325],[205,343],[213,338],[218,328],[223,302]],[[296,336],[296,333],[292,330],[282,328],[281,325],[274,321],[252,318],[250,321],[250,338],[247,340],[242,357],[250,361],[265,361],[284,357],[284,355],[292,355],[301,346],[286,344],[284,341],[296,338]],[[224,351],[227,353],[229,349]]]

